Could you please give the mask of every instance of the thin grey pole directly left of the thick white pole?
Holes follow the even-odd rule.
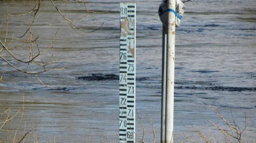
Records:
[[[161,113],[161,143],[165,142],[165,90],[166,90],[166,35],[167,29],[163,25],[163,41],[162,41],[162,113]]]

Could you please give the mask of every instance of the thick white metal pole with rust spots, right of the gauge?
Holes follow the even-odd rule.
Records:
[[[175,0],[168,0],[168,9],[175,11]],[[173,12],[168,12],[166,48],[166,105],[165,105],[165,143],[173,143],[174,113],[174,60],[175,60],[175,21]]]

